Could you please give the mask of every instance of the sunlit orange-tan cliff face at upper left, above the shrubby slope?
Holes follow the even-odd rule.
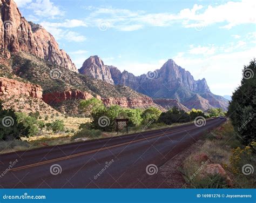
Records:
[[[3,56],[10,58],[11,53],[23,51],[78,72],[69,55],[59,49],[49,32],[42,26],[28,23],[13,0],[1,1],[0,49]]]

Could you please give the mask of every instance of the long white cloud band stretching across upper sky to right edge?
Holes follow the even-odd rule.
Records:
[[[204,28],[208,25],[221,23],[221,28],[231,29],[240,24],[255,24],[255,2],[242,0],[227,2],[221,5],[202,6],[194,4],[191,9],[183,9],[178,13],[146,13],[115,8],[90,8],[86,24],[98,26],[99,22],[107,21],[110,28],[122,31],[133,31],[145,26],[171,26],[180,23],[185,28]],[[223,25],[224,24],[224,25]]]

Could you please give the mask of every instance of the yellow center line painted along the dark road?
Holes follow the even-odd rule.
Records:
[[[180,129],[180,130],[177,130],[177,131],[171,131],[171,132],[166,132],[166,133],[174,133],[174,132],[189,130],[189,129],[192,129],[194,127],[195,126],[188,126],[186,128],[183,128],[183,129]],[[99,148],[97,150],[81,152],[81,153],[78,153],[78,154],[68,155],[66,157],[60,157],[60,158],[51,159],[51,160],[48,160],[48,161],[38,162],[38,163],[35,163],[35,164],[29,164],[29,165],[26,165],[26,166],[12,168],[10,171],[20,171],[20,170],[23,170],[23,169],[26,169],[26,168],[30,168],[30,167],[34,167],[34,166],[40,166],[40,165],[43,165],[43,164],[49,164],[49,163],[52,163],[52,162],[55,162],[55,161],[61,161],[61,160],[65,160],[65,159],[70,159],[70,158],[73,158],[73,157],[78,157],[80,155],[91,154],[91,153],[95,153],[95,152],[99,152],[99,151],[103,151],[103,150],[109,150],[110,148],[119,147],[119,146],[123,146],[123,145],[128,145],[128,144],[131,144],[131,143],[137,143],[139,141],[143,141],[143,140],[147,140],[147,139],[152,139],[152,138],[156,138],[156,137],[160,137],[160,136],[164,136],[164,135],[165,135],[165,133],[161,133],[161,134],[157,134],[156,136],[151,136],[151,137],[148,137],[148,138],[142,138],[142,139],[138,139],[138,140],[133,140],[133,141],[129,141],[127,143],[112,145],[112,146],[108,146],[108,147]]]

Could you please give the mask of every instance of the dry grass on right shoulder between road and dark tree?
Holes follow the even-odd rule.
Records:
[[[196,163],[193,158],[198,154],[205,153],[212,163],[223,166],[228,176],[232,179],[234,188],[255,187],[255,185],[253,186],[253,181],[250,180],[250,178],[243,174],[234,174],[231,170],[232,166],[230,158],[232,156],[232,149],[237,147],[242,147],[242,144],[238,140],[233,130],[233,126],[231,125],[231,121],[229,120],[221,127],[217,128],[217,130],[206,134],[202,144],[198,146],[197,151],[191,154],[184,161],[183,166],[180,169],[187,184],[192,188],[201,188],[203,185],[207,187],[207,180],[200,176],[201,170],[196,177],[193,179],[190,178],[191,175],[199,170],[200,167],[205,167],[202,163]],[[219,178],[220,177],[217,177],[217,180],[221,182],[222,180]],[[210,185],[209,187],[212,186],[213,185]],[[225,188],[226,185],[223,185],[223,187]]]

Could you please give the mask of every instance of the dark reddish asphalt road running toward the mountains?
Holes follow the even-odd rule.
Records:
[[[158,168],[224,121],[2,154],[0,187],[167,188]]]

